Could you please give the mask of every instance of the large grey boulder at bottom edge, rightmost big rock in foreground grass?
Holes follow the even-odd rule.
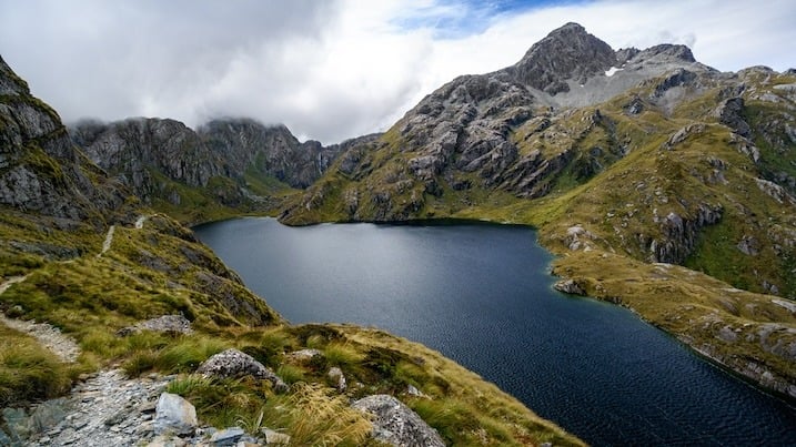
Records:
[[[393,446],[445,445],[435,429],[393,396],[367,396],[354,402],[352,407],[374,416],[372,436],[377,440]]]

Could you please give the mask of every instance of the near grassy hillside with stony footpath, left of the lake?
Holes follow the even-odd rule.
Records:
[[[167,444],[239,426],[261,444],[286,435],[292,445],[383,445],[350,403],[389,395],[449,445],[583,445],[424,346],[354,326],[289,325],[190,230],[91,163],[1,59],[0,144],[0,444],[85,435],[145,445],[161,412],[148,399],[164,386],[199,417],[192,437],[159,434]],[[153,323],[163,321],[180,324]],[[48,334],[73,342],[77,358],[48,347]],[[231,348],[255,367],[197,374]],[[279,380],[252,373],[262,370]],[[98,402],[107,396],[130,400]]]

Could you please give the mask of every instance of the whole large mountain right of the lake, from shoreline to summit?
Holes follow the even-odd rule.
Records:
[[[343,152],[280,219],[536,226],[562,288],[796,397],[795,111],[796,70],[614,51],[567,23]]]

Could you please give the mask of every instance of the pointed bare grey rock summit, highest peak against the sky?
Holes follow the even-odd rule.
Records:
[[[515,65],[502,70],[508,80],[555,95],[570,91],[566,81],[583,83],[616,64],[607,43],[577,23],[566,23],[535,43]]]

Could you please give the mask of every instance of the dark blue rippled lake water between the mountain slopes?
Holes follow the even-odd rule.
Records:
[[[532,230],[271,219],[194,230],[291,322],[421,342],[593,445],[796,445],[796,408],[622,307],[552,289]]]

